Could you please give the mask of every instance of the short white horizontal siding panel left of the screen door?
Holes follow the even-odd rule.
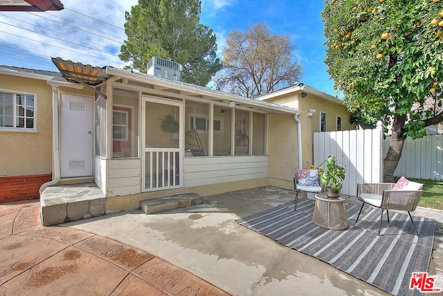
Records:
[[[140,159],[110,159],[107,172],[107,196],[141,192]]]

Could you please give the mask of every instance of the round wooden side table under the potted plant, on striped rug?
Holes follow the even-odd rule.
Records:
[[[347,228],[347,216],[345,198],[329,198],[326,194],[316,194],[314,224],[332,230],[345,230]]]

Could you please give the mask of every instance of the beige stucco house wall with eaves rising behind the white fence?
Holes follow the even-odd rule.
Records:
[[[314,161],[313,135],[320,131],[320,113],[326,113],[326,129],[327,131],[336,131],[336,118],[341,116],[341,129],[343,131],[354,129],[354,125],[350,123],[350,113],[343,104],[337,104],[324,98],[320,98],[311,93],[307,93],[305,98],[301,98],[301,91],[281,95],[267,100],[275,104],[282,104],[287,107],[298,108],[302,113],[298,116],[302,124],[302,167],[308,167],[307,162],[311,165]],[[307,113],[310,109],[316,111],[312,116]]]

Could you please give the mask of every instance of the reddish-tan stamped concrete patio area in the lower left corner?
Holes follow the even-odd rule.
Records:
[[[152,254],[38,218],[39,201],[0,203],[0,295],[227,295]]]

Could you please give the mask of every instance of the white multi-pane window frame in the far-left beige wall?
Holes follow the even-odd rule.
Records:
[[[26,91],[13,91],[10,89],[0,89],[0,93],[6,93],[12,95],[12,127],[1,127],[0,131],[15,131],[15,132],[24,132],[24,133],[36,133],[37,132],[37,94],[36,93],[28,93]],[[33,96],[33,127],[17,127],[17,118],[24,118],[24,122],[26,124],[26,115],[20,116],[17,115],[17,106],[24,106],[26,113],[26,102],[24,105],[17,105],[17,95],[25,95]],[[26,100],[26,98],[25,98]]]

